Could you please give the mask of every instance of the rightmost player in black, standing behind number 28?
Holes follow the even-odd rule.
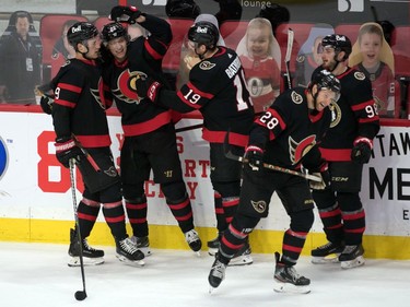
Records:
[[[371,81],[347,66],[352,45],[344,35],[332,34],[321,42],[324,63],[317,70],[331,71],[341,83],[340,99],[333,104],[333,120],[320,144],[329,163],[331,189],[314,191],[328,244],[312,250],[313,263],[340,261],[342,269],[364,264],[362,246],[365,213],[359,192],[363,164],[379,130]],[[338,258],[331,257],[339,255]]]

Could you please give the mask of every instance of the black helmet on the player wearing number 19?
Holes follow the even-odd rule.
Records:
[[[210,22],[197,22],[189,28],[188,39],[204,45],[207,49],[213,49],[216,46],[220,33],[218,27]]]

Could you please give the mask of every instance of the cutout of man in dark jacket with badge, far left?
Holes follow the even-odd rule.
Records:
[[[10,16],[9,31],[0,44],[0,101],[35,104],[34,88],[42,81],[42,49],[30,34],[35,31],[33,17],[26,11],[14,12]]]

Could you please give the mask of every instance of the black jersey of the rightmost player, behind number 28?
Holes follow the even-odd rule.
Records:
[[[379,120],[372,95],[372,83],[363,72],[349,68],[337,75],[341,85],[340,98],[332,104],[332,122],[320,144],[327,161],[350,161],[358,137],[373,140]]]

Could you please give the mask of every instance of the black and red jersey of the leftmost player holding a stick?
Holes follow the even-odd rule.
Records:
[[[73,133],[84,147],[110,145],[101,66],[92,60],[72,59],[52,80],[56,99],[52,120],[57,138]]]

